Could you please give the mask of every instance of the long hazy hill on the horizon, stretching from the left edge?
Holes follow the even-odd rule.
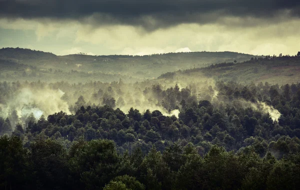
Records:
[[[32,80],[67,80],[72,77],[66,77],[68,73],[80,73],[72,78],[76,81],[86,80],[104,80],[113,81],[122,78],[126,81],[142,81],[146,79],[155,79],[166,72],[173,72],[179,69],[186,70],[192,68],[207,67],[211,64],[221,62],[243,62],[251,59],[252,55],[235,52],[190,52],[190,53],[167,53],[153,54],[145,56],[128,55],[66,55],[56,56],[52,53],[35,51],[22,48],[2,48],[0,49],[0,65],[7,66],[7,61],[21,64],[17,70],[11,70],[7,67],[0,68],[1,75],[8,78],[18,79],[22,76],[34,76]],[[27,69],[26,67],[35,69]],[[59,73],[59,77],[53,76],[53,73]],[[32,74],[32,75],[31,75]],[[92,77],[89,77],[89,75]],[[43,77],[42,77],[43,76]],[[109,79],[108,76],[114,76]],[[63,78],[60,78],[63,77]],[[66,77],[66,78],[64,78]],[[80,77],[83,77],[80,79]],[[26,78],[30,80],[31,78]],[[73,82],[73,81],[72,81]]]

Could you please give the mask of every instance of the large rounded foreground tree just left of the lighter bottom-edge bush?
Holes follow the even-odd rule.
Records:
[[[69,164],[78,188],[102,188],[121,170],[113,141],[98,139],[74,146]]]

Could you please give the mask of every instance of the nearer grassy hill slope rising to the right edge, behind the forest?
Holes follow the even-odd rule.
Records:
[[[236,81],[245,84],[251,82],[297,83],[300,82],[300,55],[255,57],[240,63],[219,63],[204,68],[167,72],[160,75],[157,80],[179,81],[183,78]]]

